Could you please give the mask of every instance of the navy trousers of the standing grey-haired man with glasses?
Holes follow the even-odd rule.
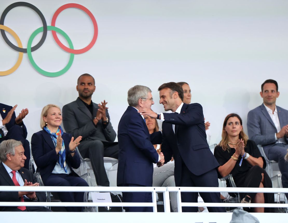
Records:
[[[138,184],[121,184],[119,186],[141,187]],[[151,192],[122,192],[124,202],[152,202]],[[153,207],[124,207],[126,212],[153,212]]]

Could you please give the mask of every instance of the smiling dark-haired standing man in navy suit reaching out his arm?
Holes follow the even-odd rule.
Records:
[[[160,119],[162,124],[161,151],[165,163],[171,157],[175,160],[176,186],[218,187],[216,168],[219,163],[209,149],[206,140],[202,106],[198,103],[184,104],[181,85],[170,82],[158,88],[160,104],[165,111],[173,113],[155,113],[151,110],[139,110],[141,115]],[[204,202],[221,203],[220,193],[200,192]],[[182,192],[182,202],[197,202],[197,192]],[[209,212],[226,212],[224,207],[208,207]],[[182,211],[197,212],[197,207],[183,207]]]

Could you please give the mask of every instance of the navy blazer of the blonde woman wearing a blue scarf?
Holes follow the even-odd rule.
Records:
[[[69,152],[69,143],[71,135],[68,133],[62,134],[66,151],[66,164],[70,167],[73,175],[78,176],[71,167],[77,169],[80,166],[80,157],[78,153],[72,157]],[[52,173],[57,161],[55,145],[51,136],[45,130],[41,130],[33,134],[31,138],[31,149],[35,164],[37,165],[37,172],[40,172],[43,183]]]

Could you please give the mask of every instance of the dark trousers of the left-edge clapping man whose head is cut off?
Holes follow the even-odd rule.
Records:
[[[24,163],[24,168],[29,169],[29,161],[30,161],[30,146],[29,141],[24,138],[23,129],[20,125],[12,126],[5,138],[0,139],[0,143],[3,140],[14,139],[17,141],[21,141],[24,147],[24,155],[27,158]]]

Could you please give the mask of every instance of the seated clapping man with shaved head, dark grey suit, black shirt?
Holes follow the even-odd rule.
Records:
[[[118,142],[114,142],[116,132],[110,123],[107,102],[95,104],[95,80],[90,74],[83,74],[77,80],[79,97],[62,108],[65,130],[74,138],[82,136],[78,146],[82,157],[89,158],[97,185],[109,186],[103,157],[118,159]]]

